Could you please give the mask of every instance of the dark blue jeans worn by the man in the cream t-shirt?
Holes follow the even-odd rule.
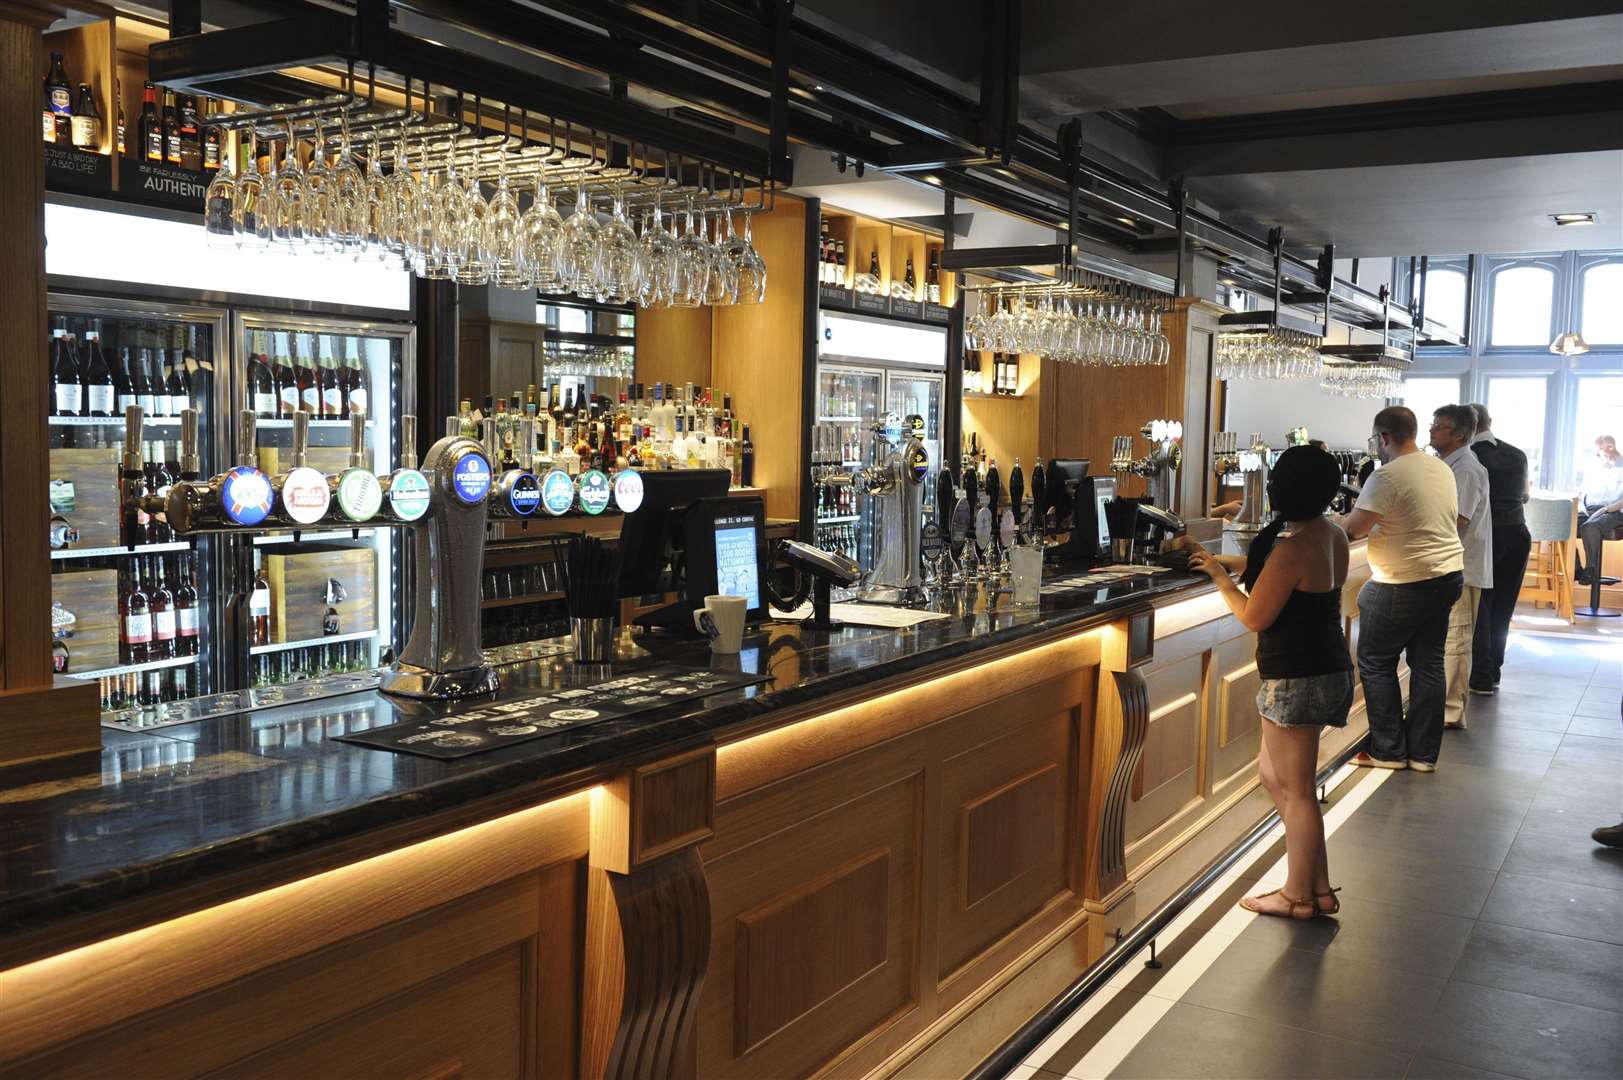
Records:
[[[1409,585],[1367,581],[1358,590],[1358,677],[1370,716],[1370,757],[1436,763],[1448,685],[1448,612],[1464,585],[1456,570]],[[1409,659],[1407,715],[1397,685],[1401,654]]]

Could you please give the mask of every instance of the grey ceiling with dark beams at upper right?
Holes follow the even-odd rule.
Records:
[[[1010,0],[1019,2],[1019,0]],[[797,13],[971,97],[982,5]],[[1019,115],[1337,257],[1623,247],[1623,0],[1021,3]],[[1548,214],[1595,211],[1560,229]]]

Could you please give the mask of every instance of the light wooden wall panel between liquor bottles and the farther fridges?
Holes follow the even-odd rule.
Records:
[[[714,312],[711,378],[732,393],[732,411],[750,426],[755,482],[766,513],[800,513],[800,370],[805,362],[805,203],[779,195],[755,214],[755,247],[766,258],[766,300]]]

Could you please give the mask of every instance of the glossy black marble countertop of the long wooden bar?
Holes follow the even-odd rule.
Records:
[[[214,875],[305,854],[370,830],[466,807],[482,799],[550,796],[596,783],[626,760],[652,757],[727,728],[771,723],[854,687],[1006,646],[1063,627],[1209,586],[1204,577],[1162,573],[1105,588],[1045,594],[1040,607],[1008,596],[959,596],[951,617],[909,630],[816,632],[768,624],[738,656],[711,658],[701,642],[622,635],[630,669],[652,656],[695,666],[777,676],[625,719],[597,721],[544,739],[458,760],[339,742],[336,736],[476,708],[396,702],[360,692],[320,702],[203,719],[154,734],[102,729],[99,767],[13,770],[0,789],[0,944],[15,945],[62,921],[86,922],[135,898]],[[784,664],[789,653],[799,663]],[[575,684],[568,658],[502,669],[500,698]],[[91,919],[93,922],[94,919]],[[93,931],[86,931],[93,934]]]

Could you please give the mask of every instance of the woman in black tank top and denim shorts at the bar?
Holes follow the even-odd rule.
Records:
[[[1190,565],[1211,575],[1229,609],[1256,632],[1256,671],[1263,679],[1256,708],[1263,715],[1258,773],[1285,823],[1285,883],[1240,906],[1259,914],[1311,919],[1341,909],[1329,883],[1324,817],[1313,780],[1323,726],[1347,724],[1352,706],[1352,654],[1342,635],[1341,586],[1347,580],[1347,534],[1324,516],[1341,484],[1336,460],[1316,447],[1279,455],[1268,484],[1274,520],[1240,560],[1196,552]],[[1279,534],[1290,526],[1290,536]],[[1240,588],[1230,565],[1243,573]]]

